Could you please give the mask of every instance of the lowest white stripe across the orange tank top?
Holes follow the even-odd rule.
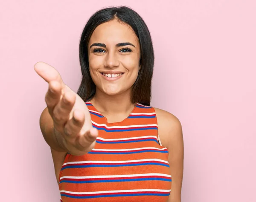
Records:
[[[90,191],[90,192],[74,192],[74,191],[66,191],[61,190],[61,193],[71,193],[71,194],[97,194],[97,193],[122,193],[122,192],[150,192],[150,191],[156,191],[156,192],[170,192],[171,190],[166,189],[133,189],[133,190],[109,190],[109,191]]]

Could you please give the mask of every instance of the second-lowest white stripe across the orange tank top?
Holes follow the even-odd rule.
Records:
[[[143,174],[132,174],[132,175],[96,175],[96,176],[63,176],[61,179],[93,179],[93,178],[117,178],[117,177],[141,177],[141,176],[163,176],[172,177],[171,175],[163,173],[143,173]]]

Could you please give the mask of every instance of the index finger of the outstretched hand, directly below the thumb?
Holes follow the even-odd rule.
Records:
[[[57,81],[50,81],[48,91],[45,95],[45,102],[47,104],[49,114],[52,116],[54,107],[61,99],[61,85]]]

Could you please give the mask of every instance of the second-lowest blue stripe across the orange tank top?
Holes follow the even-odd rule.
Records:
[[[161,181],[168,181],[172,182],[172,179],[165,179],[165,178],[143,178],[143,179],[97,179],[97,180],[83,180],[83,181],[76,181],[76,180],[61,180],[60,183],[74,183],[74,184],[83,184],[83,183],[97,183],[97,182],[132,182],[132,181],[147,181],[147,180],[161,180]]]

